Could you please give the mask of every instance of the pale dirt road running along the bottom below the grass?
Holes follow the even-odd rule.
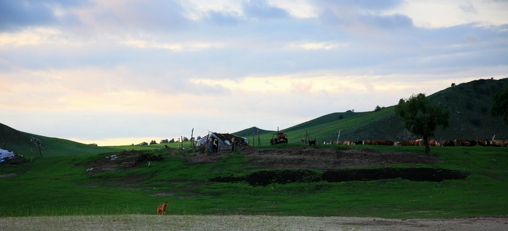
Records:
[[[273,216],[63,216],[0,218],[2,230],[507,230],[507,217],[383,219]]]

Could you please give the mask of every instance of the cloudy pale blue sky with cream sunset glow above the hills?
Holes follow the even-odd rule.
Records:
[[[507,77],[506,0],[0,0],[0,123],[85,144],[277,130]]]

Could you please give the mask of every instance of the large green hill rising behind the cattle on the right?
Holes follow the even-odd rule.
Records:
[[[439,127],[430,139],[485,140],[492,139],[495,135],[496,139],[508,140],[508,129],[504,122],[488,115],[493,104],[492,94],[506,87],[508,78],[480,79],[428,95],[431,102],[452,112],[450,126],[447,129]],[[394,114],[394,108],[391,106],[378,112],[331,113],[280,131],[288,135],[290,143],[300,143],[306,134],[310,135],[310,139],[320,142],[336,141],[339,131],[340,141],[418,139],[403,127],[400,118]],[[234,134],[242,135],[240,132]],[[272,134],[275,132],[261,134],[263,145],[269,143]]]

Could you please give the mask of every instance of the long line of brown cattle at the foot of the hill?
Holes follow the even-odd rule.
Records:
[[[362,141],[333,141],[330,144],[336,144],[336,145],[385,145],[385,146],[424,146],[424,142],[422,139],[415,140],[415,141],[400,141],[400,142],[394,142],[389,140],[362,140]],[[441,142],[438,142],[436,140],[430,140],[429,146],[434,147],[469,147],[469,146],[492,146],[492,147],[508,147],[508,141],[507,140],[463,140],[463,139],[456,139],[456,140],[443,140]]]

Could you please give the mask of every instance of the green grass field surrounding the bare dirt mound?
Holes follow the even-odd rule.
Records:
[[[423,152],[423,147],[369,148]],[[383,218],[508,215],[506,148],[431,149],[441,161],[429,167],[471,173],[465,180],[393,179],[268,186],[209,181],[211,177],[253,171],[244,164],[248,159],[239,152],[216,163],[186,165],[181,156],[193,155],[192,151],[182,151],[180,156],[173,157],[166,156],[169,150],[145,151],[161,154],[165,159],[152,161],[149,167],[144,164],[143,168],[130,171],[94,175],[87,173],[87,164],[115,152],[35,157],[19,167],[0,168],[3,196],[0,216],[155,214],[157,205],[163,201],[169,202],[168,214],[174,215]]]

